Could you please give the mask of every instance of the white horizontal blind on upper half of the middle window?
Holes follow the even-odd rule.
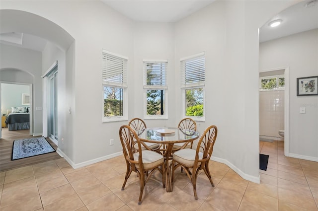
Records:
[[[144,61],[144,88],[166,87],[167,62]]]

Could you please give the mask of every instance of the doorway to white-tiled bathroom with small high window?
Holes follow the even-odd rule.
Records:
[[[259,71],[259,139],[284,141],[285,156],[289,156],[288,103],[288,67]]]

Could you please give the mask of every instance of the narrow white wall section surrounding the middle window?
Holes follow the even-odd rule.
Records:
[[[144,119],[143,60],[168,60],[167,66],[167,102],[169,120],[145,120],[147,127],[176,127],[174,90],[174,25],[172,23],[135,23],[134,25],[134,83],[135,90],[130,95],[130,106],[133,108],[129,118]]]

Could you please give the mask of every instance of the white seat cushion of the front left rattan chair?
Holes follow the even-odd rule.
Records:
[[[134,153],[134,160],[138,160],[139,152]],[[162,154],[151,150],[142,150],[144,169],[153,168],[164,162]],[[139,165],[136,165],[139,168]]]

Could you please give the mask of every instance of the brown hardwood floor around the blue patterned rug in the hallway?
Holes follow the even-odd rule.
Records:
[[[0,172],[61,158],[55,151],[33,157],[11,160],[13,141],[32,137],[33,136],[29,135],[29,130],[8,131],[8,128],[2,128],[2,138],[0,139]],[[57,145],[50,139],[47,138],[47,140],[56,150]]]

